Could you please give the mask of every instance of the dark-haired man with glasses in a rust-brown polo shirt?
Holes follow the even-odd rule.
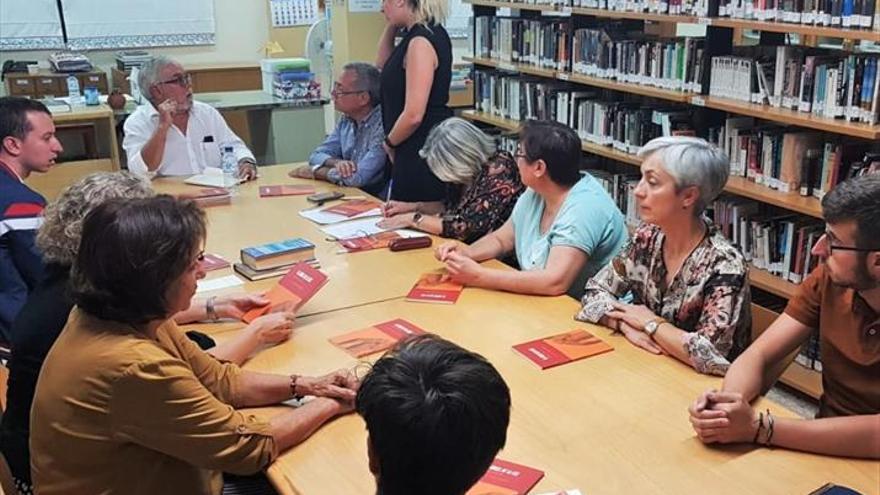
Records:
[[[785,312],[731,365],[721,391],[690,407],[705,443],[752,442],[880,458],[880,174],[842,182],[822,200],[821,264]],[[777,418],[750,404],[819,331],[823,394],[816,419]]]

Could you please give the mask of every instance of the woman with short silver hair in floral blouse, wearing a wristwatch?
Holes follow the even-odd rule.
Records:
[[[639,156],[642,224],[587,282],[576,318],[700,373],[723,375],[751,328],[746,261],[703,216],[724,189],[729,160],[706,141],[681,136],[653,139]],[[631,301],[622,302],[627,294]]]

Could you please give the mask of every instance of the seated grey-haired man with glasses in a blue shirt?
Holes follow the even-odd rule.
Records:
[[[290,175],[359,187],[379,195],[385,188],[385,151],[379,70],[363,62],[347,64],[333,85],[333,104],[342,118],[312,152],[308,165]]]

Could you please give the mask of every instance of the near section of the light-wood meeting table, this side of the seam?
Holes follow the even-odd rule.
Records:
[[[245,368],[321,373],[351,367],[356,360],[327,339],[401,317],[483,354],[498,368],[513,398],[508,441],[499,455],[546,472],[533,493],[805,495],[829,481],[865,495],[880,492],[878,462],[703,445],[687,407],[720,380],[641,351],[605,328],[573,321],[577,307],[565,296],[481,289],[466,289],[456,305],[387,301],[299,319],[289,342],[261,352]],[[511,349],[572,328],[588,329],[615,350],[541,371]],[[759,405],[793,416],[769,400]],[[329,423],[284,453],[268,474],[283,494],[372,493],[363,421],[352,414]]]

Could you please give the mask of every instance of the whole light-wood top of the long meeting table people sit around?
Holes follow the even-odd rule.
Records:
[[[286,178],[290,169],[261,167],[258,183],[311,183]],[[319,191],[337,189],[315,184]],[[159,190],[181,188],[177,182],[157,181]],[[292,338],[257,353],[246,369],[317,374],[345,367],[360,373],[362,361],[328,339],[404,318],[486,356],[504,376],[513,407],[507,445],[499,457],[546,473],[532,493],[577,488],[585,495],[806,495],[834,482],[865,495],[880,494],[877,461],[751,445],[703,445],[691,429],[687,407],[721,380],[637,349],[606,328],[574,321],[578,304],[573,299],[467,288],[452,305],[407,302],[404,296],[419,274],[440,267],[430,249],[337,254],[337,245],[297,214],[308,206],[303,197],[261,199],[255,191],[255,184],[243,185],[232,205],[207,209],[207,250],[232,261],[243,246],[302,236],[318,246],[321,269],[330,282],[302,308]],[[228,272],[211,274],[220,275]],[[244,289],[262,290],[275,280],[248,283]],[[222,340],[231,335],[231,325],[198,327]],[[574,328],[592,332],[614,350],[542,371],[512,349]],[[279,407],[254,413],[270,415]],[[760,399],[758,407],[780,417],[794,416],[768,399]],[[335,419],[283,453],[267,473],[285,495],[375,492],[365,425],[354,414]]]

